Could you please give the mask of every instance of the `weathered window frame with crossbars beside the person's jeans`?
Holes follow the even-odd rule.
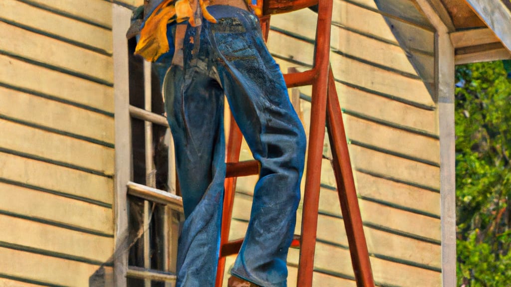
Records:
[[[144,279],[145,287],[151,286],[151,280],[165,281],[170,287],[176,280],[176,275],[169,272],[169,256],[171,256],[171,241],[177,236],[169,236],[170,212],[183,213],[181,197],[175,195],[175,178],[170,179],[170,193],[154,188],[155,173],[152,148],[152,125],[156,124],[169,129],[167,119],[151,112],[151,63],[144,62],[144,102],[146,109],[131,106],[129,103],[129,64],[128,39],[126,32],[130,26],[132,10],[121,5],[112,4],[112,38],[114,66],[114,103],[115,103],[115,175],[114,175],[114,219],[115,219],[115,252],[114,252],[114,284],[126,286],[127,277]],[[149,107],[149,108],[147,108]],[[141,119],[145,123],[145,155],[146,182],[150,186],[132,182],[132,138],[131,118]],[[171,140],[172,141],[172,140]],[[169,159],[173,157],[173,145],[169,144]],[[175,175],[174,164],[169,160],[169,174]],[[144,240],[144,268],[128,266],[128,195],[144,200],[144,230],[148,230],[152,203],[166,206],[164,209],[164,269],[152,270],[150,267],[149,232],[142,235]],[[177,235],[178,230],[172,230]],[[175,238],[171,238],[175,237]],[[172,256],[175,256],[172,254]]]

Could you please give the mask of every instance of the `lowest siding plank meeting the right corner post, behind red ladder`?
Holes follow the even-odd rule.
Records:
[[[290,249],[288,261],[297,262],[298,250]],[[337,260],[332,260],[336,258]],[[371,267],[375,281],[380,284],[392,286],[415,287],[415,286],[440,286],[442,285],[441,273],[399,264],[380,258],[370,257]],[[330,272],[339,272],[353,276],[350,252],[331,245],[322,243],[316,244],[316,255],[314,258],[316,269]]]

